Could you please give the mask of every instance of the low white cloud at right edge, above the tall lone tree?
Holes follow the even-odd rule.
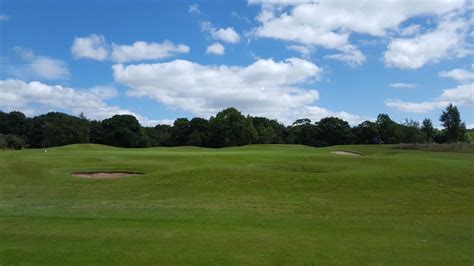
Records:
[[[459,106],[474,106],[474,83],[458,85],[456,88],[444,90],[432,101],[404,102],[387,100],[385,105],[408,113],[427,113],[434,109],[446,107],[449,103]]]

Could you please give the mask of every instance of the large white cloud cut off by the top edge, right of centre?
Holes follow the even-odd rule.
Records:
[[[249,2],[262,7],[257,16],[261,25],[254,31],[257,37],[337,49],[342,53],[327,58],[353,65],[362,64],[365,57],[349,43],[351,33],[386,36],[389,31],[398,31],[400,24],[411,17],[441,16],[464,6],[464,0]],[[402,34],[414,34],[417,30],[417,26],[408,27]]]

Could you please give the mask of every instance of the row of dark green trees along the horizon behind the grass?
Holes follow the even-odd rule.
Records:
[[[303,144],[324,147],[343,144],[455,143],[468,141],[466,126],[456,106],[441,114],[444,129],[430,119],[420,124],[393,121],[387,114],[355,127],[327,117],[312,122],[298,119],[285,126],[265,117],[244,116],[227,108],[209,120],[178,118],[173,125],[143,127],[132,115],[114,115],[96,121],[59,112],[26,117],[21,112],[0,111],[0,148],[47,148],[75,143],[98,143],[118,147],[199,146],[232,147],[247,144]]]

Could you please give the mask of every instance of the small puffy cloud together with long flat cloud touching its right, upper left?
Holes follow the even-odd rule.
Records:
[[[102,35],[91,34],[87,37],[75,38],[71,47],[74,58],[89,58],[94,60],[110,59],[114,62],[159,60],[177,54],[189,53],[189,46],[174,44],[165,40],[162,43],[136,41],[132,45],[113,43],[108,45]]]

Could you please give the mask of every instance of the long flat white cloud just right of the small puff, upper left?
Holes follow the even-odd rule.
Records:
[[[171,57],[177,54],[189,53],[189,46],[174,44],[170,41],[162,43],[147,43],[143,41],[134,42],[132,45],[112,45],[112,60],[119,63],[157,60]]]

